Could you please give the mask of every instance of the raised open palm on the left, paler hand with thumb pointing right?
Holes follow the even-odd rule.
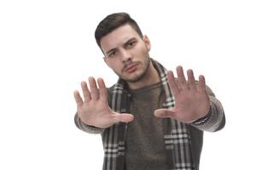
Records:
[[[74,98],[78,105],[78,115],[82,122],[89,126],[108,128],[117,122],[131,122],[134,116],[131,114],[119,114],[108,106],[108,89],[102,78],[96,80],[89,77],[90,90],[86,82],[81,82],[84,100],[78,91],[74,91]]]

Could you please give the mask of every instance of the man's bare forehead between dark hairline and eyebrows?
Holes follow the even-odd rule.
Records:
[[[132,28],[129,24],[120,26],[117,29],[111,31],[101,39],[101,47],[103,51],[107,51],[110,48],[117,48],[124,44],[132,37],[140,38],[137,31]]]

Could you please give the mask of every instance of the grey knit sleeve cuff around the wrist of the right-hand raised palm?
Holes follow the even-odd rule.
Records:
[[[224,108],[220,101],[213,94],[212,89],[207,87],[207,93],[210,97],[210,110],[207,116],[201,117],[191,125],[202,131],[216,132],[225,125]]]

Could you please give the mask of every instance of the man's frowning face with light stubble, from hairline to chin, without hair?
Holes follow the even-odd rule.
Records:
[[[101,39],[107,65],[127,82],[138,82],[150,63],[148,37],[140,37],[130,25],[120,26]]]

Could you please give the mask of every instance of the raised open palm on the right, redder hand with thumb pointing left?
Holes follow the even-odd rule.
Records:
[[[154,111],[158,117],[171,117],[179,122],[194,122],[206,116],[210,109],[210,99],[206,91],[206,82],[203,76],[195,82],[192,70],[187,71],[188,81],[183,74],[183,67],[177,66],[177,79],[172,71],[167,72],[167,80],[175,97],[175,106],[172,109]]]

